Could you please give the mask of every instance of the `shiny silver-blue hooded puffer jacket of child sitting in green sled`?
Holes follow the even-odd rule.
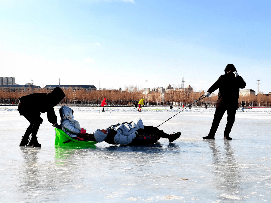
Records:
[[[59,109],[60,125],[62,130],[70,137],[74,138],[80,133],[80,124],[73,119],[72,109],[67,106],[62,106]]]

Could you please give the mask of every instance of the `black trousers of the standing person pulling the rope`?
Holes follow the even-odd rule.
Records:
[[[233,123],[235,120],[235,114],[236,114],[236,107],[217,107],[215,110],[215,116],[212,123],[212,127],[210,129],[210,132],[208,136],[215,136],[215,133],[217,132],[217,128],[219,126],[219,123],[224,115],[224,113],[227,111],[227,124],[224,130],[224,136],[229,136],[231,132],[231,128],[233,127]]]

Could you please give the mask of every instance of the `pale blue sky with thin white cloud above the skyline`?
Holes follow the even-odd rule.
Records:
[[[271,92],[271,1],[0,0],[0,77],[207,91],[234,64]],[[147,80],[147,82],[146,82]]]

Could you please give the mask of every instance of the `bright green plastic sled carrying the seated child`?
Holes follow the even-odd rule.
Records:
[[[58,128],[55,128],[54,130],[56,131],[56,140],[54,141],[54,144],[59,147],[95,145],[97,143],[96,141],[75,140],[69,137],[63,130]]]

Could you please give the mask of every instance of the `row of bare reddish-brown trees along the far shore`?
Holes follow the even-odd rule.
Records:
[[[196,102],[199,97],[204,94],[202,92],[189,92],[181,90],[173,90],[170,93],[164,93],[164,98],[162,99],[161,93],[149,93],[143,94],[137,86],[128,86],[125,91],[114,91],[114,90],[96,90],[96,91],[85,91],[84,89],[74,90],[73,88],[68,88],[63,90],[66,97],[60,102],[60,105],[93,105],[98,106],[101,104],[104,98],[107,98],[106,102],[108,105],[114,106],[132,106],[133,103],[138,103],[142,98],[145,99],[145,104],[156,106],[156,105],[166,105],[169,106],[170,103],[173,106],[189,105]],[[0,91],[0,103],[1,104],[18,104],[19,98],[31,93],[50,93],[51,90],[38,89],[33,90],[31,88],[24,92],[9,92]],[[162,102],[163,100],[163,102]],[[249,106],[271,106],[271,97],[265,94],[258,94],[257,96],[240,96],[239,105],[241,101]],[[199,100],[193,106],[204,106],[206,103],[208,106],[215,106],[217,101],[217,95],[212,94],[210,97]],[[33,101],[38,102],[38,101]]]

